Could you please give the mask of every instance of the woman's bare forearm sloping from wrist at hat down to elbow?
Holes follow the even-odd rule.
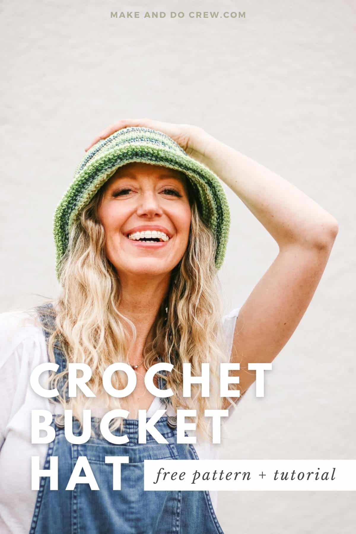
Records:
[[[333,244],[336,219],[275,172],[205,132],[196,136],[192,152],[239,196],[280,248]]]

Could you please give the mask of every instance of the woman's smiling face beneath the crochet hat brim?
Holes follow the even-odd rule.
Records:
[[[118,169],[105,184],[99,218],[106,255],[118,276],[167,274],[181,260],[191,225],[186,180],[179,171],[135,162]],[[145,231],[163,232],[169,239],[155,233],[146,235],[159,242],[128,237]]]

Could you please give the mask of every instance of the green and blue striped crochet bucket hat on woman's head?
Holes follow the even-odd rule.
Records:
[[[60,276],[60,261],[66,252],[70,228],[100,187],[115,171],[132,162],[151,163],[176,169],[187,176],[205,224],[217,238],[215,265],[224,261],[230,210],[220,179],[208,167],[197,162],[173,139],[148,128],[124,128],[93,145],[78,165],[74,180],[54,214],[56,244],[56,274]]]

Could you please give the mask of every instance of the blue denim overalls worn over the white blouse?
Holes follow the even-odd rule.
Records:
[[[46,313],[50,307],[36,308],[42,324],[54,321]],[[48,341],[49,333],[44,333]],[[66,359],[58,345],[54,356],[58,372],[63,371]],[[159,388],[163,389],[163,379]],[[167,444],[157,443],[149,433],[147,443],[141,444],[138,420],[126,419],[123,434],[129,442],[115,445],[102,437],[100,419],[92,417],[96,437],[75,445],[65,438],[63,416],[53,414],[56,437],[48,446],[44,469],[49,469],[51,456],[58,457],[58,490],[50,490],[49,477],[41,477],[30,534],[223,534],[208,491],[144,491],[144,460],[199,459],[192,444],[177,443],[175,420],[165,415],[155,425]],[[77,420],[73,434],[82,434]],[[112,434],[122,435],[120,428]],[[65,489],[80,456],[88,458],[99,490],[91,490],[88,483]],[[121,465],[121,490],[113,490],[113,464],[105,463],[106,456],[129,457],[129,464]]]

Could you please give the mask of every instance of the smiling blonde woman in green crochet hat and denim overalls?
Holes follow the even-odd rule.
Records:
[[[279,246],[240,311],[223,318],[217,271],[230,216],[219,179]],[[59,299],[31,314],[1,316],[1,531],[54,532],[60,525],[60,532],[222,532],[216,494],[145,492],[143,462],[215,457],[204,410],[230,410],[256,378],[248,363],[270,363],[279,354],[311,301],[337,231],[334,217],[296,187],[200,128],[123,120],[94,139],[54,219]],[[49,377],[51,389],[59,391],[51,399],[28,386],[34,368],[48,360],[59,366]],[[154,375],[154,394],[144,379],[160,362],[171,367]],[[221,362],[240,363],[240,371],[232,371],[238,391],[230,397],[219,395]],[[89,389],[77,387],[75,397],[68,396],[68,363],[91,370]],[[118,363],[136,375],[136,388],[125,397],[117,393],[128,384],[122,371],[110,377],[110,394],[102,383],[106,368]],[[193,377],[209,363],[209,397],[199,383],[183,396],[184,363],[191,364]],[[168,388],[170,397],[160,392]],[[51,443],[31,444],[35,409],[51,412]],[[77,439],[88,432],[83,409],[91,410],[85,442],[65,438],[64,409],[73,411]],[[178,409],[195,410],[189,418],[196,429],[185,433],[189,444],[177,441]],[[113,412],[122,417],[110,420],[110,430],[116,438],[128,436],[128,443],[100,434],[100,421],[111,410],[126,411]],[[139,443],[142,417],[154,419],[164,443],[148,431],[147,443]],[[57,491],[38,470],[37,491],[29,489],[31,456],[38,457],[38,469],[49,469],[58,457]],[[113,490],[107,456],[129,457],[121,466],[120,491]],[[100,491],[93,491],[98,488],[89,482],[86,464],[86,483],[77,480],[66,489],[80,457],[88,460]],[[22,458],[20,466],[16,458]]]

